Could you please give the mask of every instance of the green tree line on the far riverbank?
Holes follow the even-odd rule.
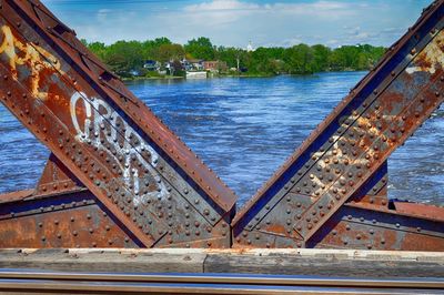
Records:
[[[324,71],[369,70],[385,52],[370,44],[343,45],[331,49],[323,44],[296,44],[290,48],[260,47],[254,51],[234,47],[213,45],[209,38],[198,38],[184,45],[168,38],[147,41],[118,41],[112,44],[82,42],[108,67],[122,77],[142,71],[147,60],[159,62],[186,60],[223,61],[232,71],[244,74],[310,74]],[[239,73],[239,72],[238,72]]]

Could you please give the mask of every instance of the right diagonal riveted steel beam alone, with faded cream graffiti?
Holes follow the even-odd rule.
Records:
[[[305,246],[444,98],[435,1],[232,222],[235,246]]]

